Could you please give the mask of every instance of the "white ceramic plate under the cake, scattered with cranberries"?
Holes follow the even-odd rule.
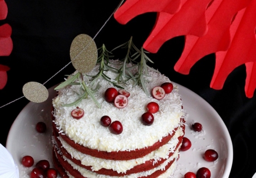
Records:
[[[177,84],[180,88],[186,116],[185,137],[190,139],[192,146],[189,150],[180,153],[178,169],[173,177],[183,178],[188,171],[196,172],[200,167],[208,167],[211,178],[228,178],[233,161],[233,146],[229,132],[223,120],[208,102],[188,88]],[[51,102],[56,92],[55,86],[48,89],[48,100],[43,103],[29,102],[19,113],[9,131],[6,148],[12,154],[19,167],[19,177],[29,177],[32,170],[21,165],[21,158],[31,155],[35,162],[47,159],[52,164],[51,143]],[[36,123],[43,121],[47,124],[46,133],[38,133]],[[194,122],[203,125],[203,131],[194,132],[190,126]],[[207,162],[203,159],[204,151],[214,149],[219,159]]]

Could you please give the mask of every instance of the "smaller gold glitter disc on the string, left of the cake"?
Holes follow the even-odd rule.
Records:
[[[38,82],[28,82],[22,88],[23,95],[32,102],[40,103],[47,100],[49,93],[45,86]]]

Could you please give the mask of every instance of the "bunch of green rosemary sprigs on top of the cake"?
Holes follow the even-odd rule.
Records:
[[[127,48],[127,53],[125,55],[125,57],[120,60],[120,68],[115,68],[112,67],[110,64],[112,64],[110,62],[110,58],[114,57],[110,54],[112,54],[112,51],[117,50],[117,48]],[[154,68],[151,68],[149,66],[147,66],[147,62],[151,62],[154,63],[150,60],[149,57],[146,56],[146,52],[143,50],[143,48],[141,47],[141,49],[139,50],[134,43],[132,42],[132,37],[130,38],[129,41],[127,41],[126,43],[117,46],[116,48],[114,48],[111,52],[107,50],[106,46],[103,44],[101,48],[98,49],[100,55],[97,58],[97,63],[99,64],[99,72],[94,75],[84,75],[85,77],[87,77],[88,79],[88,85],[90,87],[88,87],[86,85],[86,83],[83,81],[83,76],[82,73],[77,72],[75,75],[70,75],[70,77],[67,78],[67,80],[65,82],[62,82],[60,85],[58,85],[55,90],[59,90],[60,88],[66,87],[68,85],[80,85],[80,93],[77,93],[77,95],[79,96],[78,100],[76,100],[75,102],[63,105],[63,106],[73,106],[73,105],[78,105],[78,103],[80,103],[84,98],[88,98],[88,96],[91,97],[91,99],[93,100],[93,102],[95,102],[95,104],[101,108],[100,103],[96,100],[96,97],[93,95],[94,92],[97,91],[97,89],[100,87],[99,83],[97,83],[97,86],[95,87],[94,90],[92,90],[93,85],[95,85],[96,81],[102,77],[104,78],[104,80],[107,80],[109,82],[111,82],[114,86],[118,87],[118,88],[122,88],[123,87],[119,86],[118,83],[125,83],[127,80],[133,80],[134,81],[134,85],[141,85],[141,87],[143,88],[143,90],[145,91],[146,95],[149,96],[150,93],[149,91],[147,91],[146,88],[146,83],[149,82],[147,80],[145,80],[145,77],[148,77],[148,70],[152,70],[155,72],[159,72],[157,70],[155,70]],[[137,62],[137,60],[139,60],[139,62]],[[128,63],[132,63],[132,66],[127,66]],[[114,65],[117,65],[116,63],[114,63]],[[137,67],[137,72],[135,74],[133,74],[131,72],[131,70],[133,68]],[[112,71],[117,73],[117,77],[116,78],[110,78],[109,76],[106,75],[106,71]],[[78,78],[78,82],[75,82]]]

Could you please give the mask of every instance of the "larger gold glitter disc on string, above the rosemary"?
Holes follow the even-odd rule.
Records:
[[[87,34],[76,36],[70,47],[70,58],[73,67],[80,73],[90,72],[97,62],[97,46]]]

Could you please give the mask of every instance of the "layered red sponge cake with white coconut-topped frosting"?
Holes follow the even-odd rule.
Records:
[[[111,60],[109,65],[120,68],[119,63]],[[86,75],[80,73],[82,79],[78,77],[72,82],[80,85],[60,88],[53,98],[53,162],[61,177],[170,177],[179,159],[185,130],[179,87],[172,83],[170,93],[154,97],[153,88],[171,83],[168,77],[154,70],[147,71],[143,87],[132,79],[117,86],[104,77],[96,78],[93,87],[91,76],[97,75],[99,67],[96,65]],[[135,75],[137,70],[135,67],[130,72]],[[104,73],[113,81],[119,75],[112,70]],[[82,83],[91,87],[93,97],[81,98],[85,93]],[[106,98],[108,88],[117,91],[121,88],[129,95],[118,93],[121,97],[115,103]],[[154,120],[147,120],[146,124],[142,115],[149,112],[147,106],[151,102],[157,103],[159,110],[151,113]],[[74,117],[75,110],[81,111],[81,118]],[[111,119],[110,125],[102,124],[103,116]],[[115,132],[112,123],[116,121],[121,128],[117,125],[119,130]]]

